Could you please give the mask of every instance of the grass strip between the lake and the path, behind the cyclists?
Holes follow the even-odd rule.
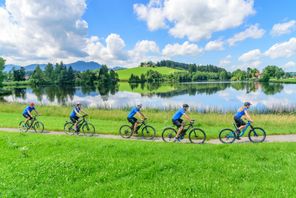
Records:
[[[23,109],[26,105],[17,103],[0,103],[0,128],[16,128],[21,120]],[[66,120],[72,110],[67,106],[37,106],[42,115],[39,120],[45,125],[46,130],[63,131]],[[126,110],[85,109],[90,115],[90,121],[95,125],[97,133],[118,134],[121,125],[127,124]],[[172,126],[171,117],[174,111],[160,111],[144,109],[142,111],[148,117],[148,123],[156,128],[160,136],[165,127]],[[233,128],[232,114],[207,113],[201,114],[189,112],[189,115],[197,122],[196,126],[205,130],[208,138],[217,138],[223,128]],[[252,115],[252,114],[251,114]],[[293,134],[296,133],[296,116],[293,114],[255,114],[254,126],[263,127],[267,134]]]

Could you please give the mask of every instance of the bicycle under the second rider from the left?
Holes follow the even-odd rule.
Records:
[[[79,134],[79,131],[82,130],[82,133],[86,136],[93,136],[96,132],[95,126],[88,122],[86,119],[88,115],[83,115],[81,119],[78,120],[77,128],[78,131],[74,128],[74,122],[66,121],[64,125],[64,132],[68,135]]]

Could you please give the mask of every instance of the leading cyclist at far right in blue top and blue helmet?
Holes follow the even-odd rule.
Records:
[[[251,107],[251,103],[250,102],[245,102],[244,106],[242,106],[241,108],[238,109],[237,113],[234,115],[234,121],[235,124],[237,126],[237,130],[236,130],[236,137],[237,139],[240,139],[239,134],[240,131],[245,128],[246,123],[242,120],[242,117],[246,117],[247,120],[249,120],[250,122],[253,122],[252,118],[250,117],[249,113],[248,113],[248,109]]]

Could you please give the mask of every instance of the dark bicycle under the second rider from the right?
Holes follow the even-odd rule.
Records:
[[[194,127],[195,120],[192,120],[190,124],[187,125],[187,128],[184,127],[183,131],[180,133],[179,138],[180,140],[185,138],[187,131],[189,132],[189,141],[193,144],[203,144],[206,140],[206,133],[200,129]],[[174,137],[176,137],[177,131],[173,127],[167,127],[162,132],[162,140],[164,142],[173,142]]]

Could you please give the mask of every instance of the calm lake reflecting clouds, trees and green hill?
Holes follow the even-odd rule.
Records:
[[[295,84],[260,83],[195,83],[138,84],[120,83],[113,87],[35,87],[13,88],[7,102],[49,105],[71,105],[77,101],[88,107],[124,108],[142,103],[157,109],[178,108],[188,103],[192,110],[234,111],[243,101],[251,101],[253,109],[296,109]]]

